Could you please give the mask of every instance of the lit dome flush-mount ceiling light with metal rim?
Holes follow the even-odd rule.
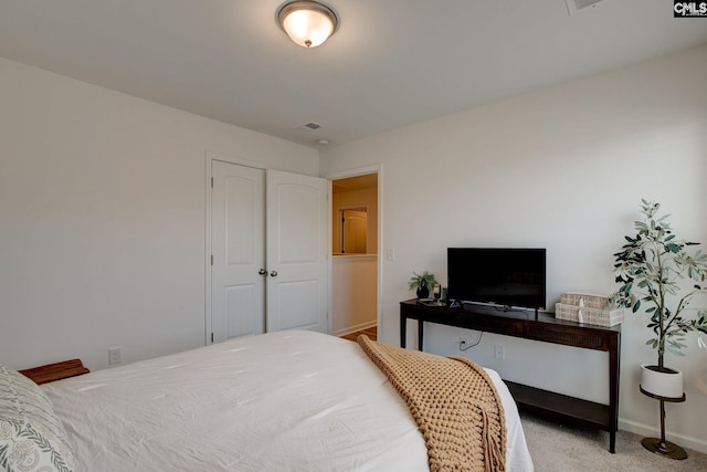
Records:
[[[336,32],[339,18],[318,1],[289,1],[277,9],[277,24],[296,44],[315,48]]]

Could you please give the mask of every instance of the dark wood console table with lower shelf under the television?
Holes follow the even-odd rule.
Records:
[[[582,400],[504,380],[518,408],[609,431],[609,451],[615,452],[619,429],[619,360],[621,325],[603,327],[556,319],[547,314],[503,312],[494,307],[465,305],[426,306],[416,300],[400,303],[400,345],[405,347],[408,319],[418,321],[418,346],[422,350],[424,323],[436,323],[506,336],[609,353],[609,405]]]

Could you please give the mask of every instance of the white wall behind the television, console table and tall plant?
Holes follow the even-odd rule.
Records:
[[[445,281],[447,247],[547,248],[551,308],[564,291],[618,289],[612,254],[642,197],[663,203],[678,235],[707,243],[706,83],[704,45],[323,153],[321,175],[386,167],[379,252],[395,259],[383,262],[379,336],[399,342],[399,302],[414,296],[407,281],[422,270]],[[639,364],[655,359],[645,324],[629,316],[622,333],[621,426],[637,432],[658,427],[658,403],[637,388]],[[477,336],[425,333],[425,349],[444,355],[460,354],[460,333]],[[687,401],[667,406],[668,439],[707,450],[696,415],[707,411],[707,350],[688,343],[686,358],[671,358],[685,370]],[[510,380],[608,401],[603,353],[486,334],[465,355]]]

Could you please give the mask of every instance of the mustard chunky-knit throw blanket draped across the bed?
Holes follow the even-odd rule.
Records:
[[[483,368],[358,337],[361,348],[408,403],[422,432],[430,471],[505,471],[506,422]]]

